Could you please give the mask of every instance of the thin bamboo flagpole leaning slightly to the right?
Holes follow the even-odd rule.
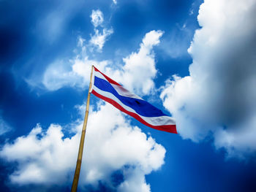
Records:
[[[80,168],[81,168],[82,156],[83,156],[83,143],[84,143],[84,138],[86,136],[86,126],[87,126],[87,120],[89,115],[89,103],[90,103],[90,96],[91,96],[90,90],[91,90],[91,79],[92,79],[93,69],[94,69],[94,66],[91,66],[90,85],[89,85],[89,91],[88,91],[87,102],[86,102],[86,115],[83,121],[83,129],[82,129],[79,151],[78,151],[78,161],[75,167],[75,174],[74,174],[74,179],[73,179],[72,188],[71,188],[72,192],[76,192],[78,188],[78,180],[79,180]]]

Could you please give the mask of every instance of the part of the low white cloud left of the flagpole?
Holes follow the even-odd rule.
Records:
[[[44,132],[37,125],[29,135],[4,145],[1,157],[18,162],[18,170],[10,176],[12,183],[26,185],[69,181],[67,174],[75,162],[79,136],[76,134],[72,139],[62,137],[61,126],[51,125]],[[69,158],[64,158],[66,152]]]

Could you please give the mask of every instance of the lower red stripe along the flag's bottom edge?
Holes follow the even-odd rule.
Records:
[[[147,123],[145,120],[143,120],[142,118],[140,118],[139,115],[137,115],[134,112],[129,112],[127,110],[124,109],[124,107],[121,107],[120,104],[118,104],[116,101],[114,101],[113,99],[109,99],[108,97],[102,96],[101,94],[97,93],[96,91],[91,91],[91,93],[94,94],[94,96],[99,97],[100,99],[103,99],[104,101],[107,101],[108,103],[112,104],[114,107],[116,107],[118,110],[121,110],[122,112],[127,113],[127,115],[132,116],[133,118],[137,119],[138,121],[140,121],[140,123],[143,123],[144,125],[151,127],[151,128],[155,128],[157,130],[160,131],[167,131],[169,133],[173,133],[173,134],[178,134],[177,129],[176,129],[176,125],[164,125],[164,126],[152,126],[151,124]]]

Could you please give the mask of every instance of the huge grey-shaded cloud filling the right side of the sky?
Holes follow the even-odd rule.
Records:
[[[241,158],[256,150],[255,11],[253,0],[205,0],[188,50],[190,75],[174,76],[161,94],[182,137],[212,135],[217,148]]]

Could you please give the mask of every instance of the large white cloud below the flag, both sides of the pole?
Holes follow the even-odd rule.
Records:
[[[90,112],[80,188],[89,184],[97,188],[100,180],[118,191],[150,191],[145,174],[164,164],[165,148],[140,128],[130,126],[110,104],[98,108]],[[18,162],[10,175],[11,183],[71,185],[82,121],[71,127],[75,135],[64,137],[59,125],[52,124],[46,131],[37,125],[28,135],[4,145],[1,158]],[[113,185],[113,173],[118,170],[123,179]]]

